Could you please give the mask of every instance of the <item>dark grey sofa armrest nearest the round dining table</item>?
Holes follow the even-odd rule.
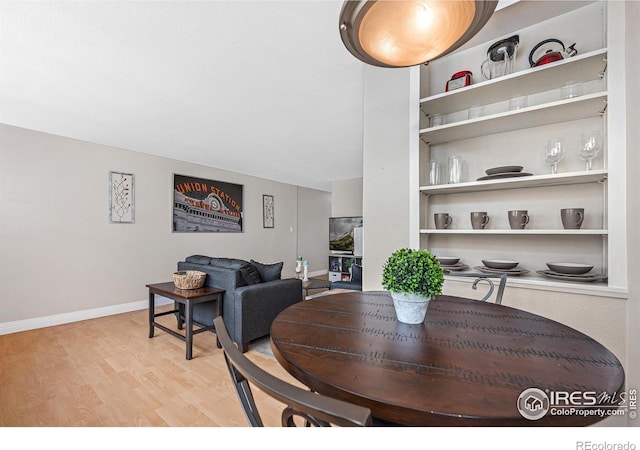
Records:
[[[302,281],[295,278],[267,281],[236,289],[233,340],[238,344],[245,344],[267,336],[276,316],[301,300]]]

